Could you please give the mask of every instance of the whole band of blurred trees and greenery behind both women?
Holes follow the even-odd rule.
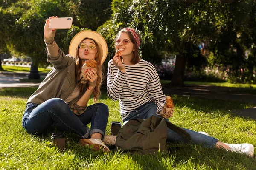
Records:
[[[46,68],[43,28],[50,16],[73,17],[72,28],[55,37],[65,54],[79,31],[102,34],[105,70],[116,34],[130,26],[141,35],[142,59],[171,86],[184,80],[256,83],[255,0],[3,0],[0,54],[31,57]]]

